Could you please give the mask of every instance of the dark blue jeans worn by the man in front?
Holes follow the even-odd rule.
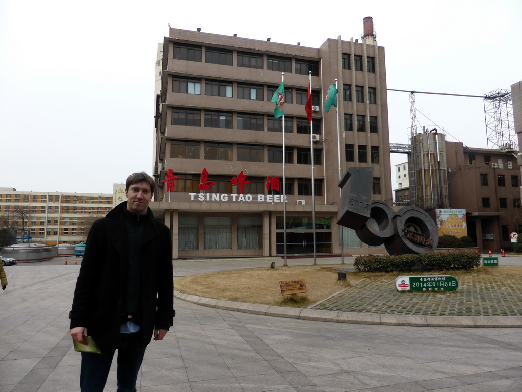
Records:
[[[143,362],[146,345],[137,341],[136,333],[122,333],[117,357],[117,392],[136,392],[136,378]],[[81,353],[80,391],[103,392],[115,349],[101,354]]]

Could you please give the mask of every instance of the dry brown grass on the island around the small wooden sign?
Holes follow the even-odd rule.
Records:
[[[372,273],[347,272],[347,281],[339,281],[337,272],[325,270],[325,267],[339,266],[298,266],[255,268],[245,270],[209,272],[197,275],[184,276],[174,281],[174,289],[182,293],[199,295],[207,298],[224,299],[226,301],[246,302],[275,306],[306,307],[315,304],[341,290],[349,289],[362,279],[381,279],[389,276],[390,284],[399,275],[408,273]],[[412,273],[417,275],[423,273]],[[430,274],[453,275],[460,285],[466,284],[466,277],[470,274],[474,279],[481,278],[484,282],[492,275],[504,281],[520,281],[521,267],[480,267],[472,271],[437,271]],[[301,279],[306,282],[307,293],[298,297],[281,295],[280,281]]]

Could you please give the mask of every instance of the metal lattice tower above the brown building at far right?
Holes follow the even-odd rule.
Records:
[[[488,148],[518,151],[511,91],[496,89],[484,97]]]

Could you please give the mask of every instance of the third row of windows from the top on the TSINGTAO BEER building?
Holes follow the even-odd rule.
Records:
[[[209,128],[225,128],[233,129],[233,112],[205,110],[205,125]],[[236,129],[264,131],[265,114],[253,113],[235,113]],[[282,121],[267,115],[266,130],[268,132],[282,132]],[[366,131],[366,117],[360,114],[355,116],[358,132]],[[295,129],[294,129],[295,123]],[[188,125],[201,126],[201,110],[200,109],[183,109],[172,108],[172,125]],[[345,131],[354,131],[353,114],[345,114],[343,125]],[[321,120],[312,120],[313,133],[321,134]],[[377,133],[377,117],[369,116],[370,133]],[[309,135],[312,132],[310,123],[306,118],[285,117],[284,118],[285,133],[300,133]]]

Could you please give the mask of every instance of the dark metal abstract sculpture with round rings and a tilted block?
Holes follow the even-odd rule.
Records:
[[[337,223],[354,229],[367,245],[384,244],[390,255],[433,252],[438,245],[438,230],[430,215],[414,206],[394,212],[385,202],[371,200],[372,181],[371,167],[350,167],[346,171],[339,182]]]

